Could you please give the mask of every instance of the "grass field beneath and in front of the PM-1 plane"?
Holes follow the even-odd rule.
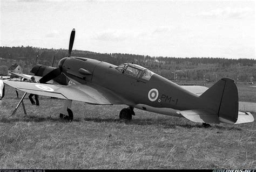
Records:
[[[256,102],[256,88],[239,86],[242,101]],[[19,91],[20,97],[22,92]],[[39,96],[40,106],[6,87],[0,109],[0,169],[252,169],[256,168],[253,123],[203,128],[185,118],[134,110],[125,105],[73,102],[72,123],[60,120],[62,99]],[[254,118],[256,112],[252,112]]]

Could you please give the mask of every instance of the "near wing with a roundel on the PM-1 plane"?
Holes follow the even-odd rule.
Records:
[[[131,103],[125,101],[125,99],[119,97],[110,90],[100,88],[97,85],[57,85],[15,81],[4,81],[4,83],[10,87],[30,94],[70,99],[90,104],[112,105]]]

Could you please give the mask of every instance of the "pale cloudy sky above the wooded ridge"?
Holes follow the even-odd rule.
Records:
[[[1,0],[0,46],[255,58],[254,1]]]

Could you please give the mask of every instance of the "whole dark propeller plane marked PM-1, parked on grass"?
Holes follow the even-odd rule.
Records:
[[[65,99],[60,118],[65,117],[70,121],[73,119],[72,101],[93,105],[125,104],[128,107],[119,113],[119,118],[125,120],[131,120],[135,115],[134,108],[137,108],[184,117],[203,123],[203,126],[209,126],[209,123],[241,124],[254,121],[250,112],[238,111],[238,90],[231,78],[223,77],[210,88],[180,86],[138,64],[115,66],[95,59],[71,56],[74,39],[75,28],[70,35],[69,55],[59,61],[58,68],[47,69],[48,73],[39,77],[39,83],[4,83],[25,94]],[[68,85],[48,83],[60,75],[68,78]]]

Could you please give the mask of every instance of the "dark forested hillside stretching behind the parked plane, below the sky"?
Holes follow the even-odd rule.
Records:
[[[29,74],[35,64],[57,67],[58,61],[65,56],[68,56],[68,49],[0,47],[0,75],[7,75],[6,70],[14,63],[19,64],[26,74]],[[73,50],[72,56],[97,59],[117,66],[125,62],[133,62],[169,80],[216,81],[221,77],[230,77],[239,82],[256,81],[255,59],[176,58],[122,53],[103,54],[80,50]]]

